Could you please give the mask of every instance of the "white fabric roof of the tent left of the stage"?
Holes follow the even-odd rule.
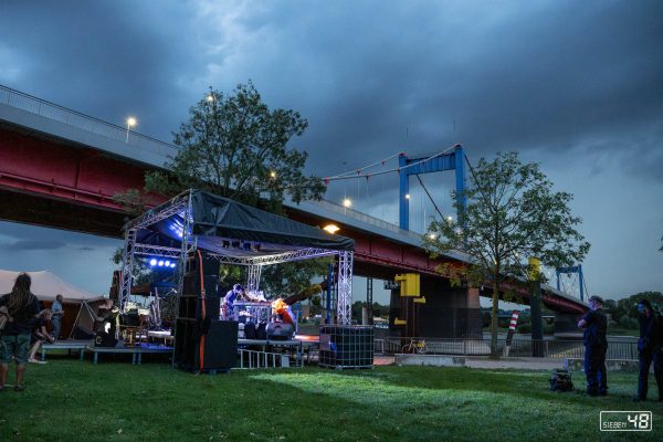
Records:
[[[11,292],[17,276],[21,272],[10,272],[0,270],[0,295]],[[65,302],[80,303],[83,301],[93,302],[102,299],[103,296],[87,293],[82,288],[75,287],[64,281],[51,271],[25,272],[32,278],[31,292],[40,301],[55,301],[57,294],[62,294]]]

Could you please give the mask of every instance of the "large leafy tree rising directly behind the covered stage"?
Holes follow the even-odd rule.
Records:
[[[238,85],[232,94],[210,87],[173,133],[177,156],[164,170],[147,172],[144,189],[130,189],[115,199],[135,214],[145,210],[149,193],[171,198],[189,188],[276,213],[282,212],[286,196],[295,202],[320,199],[323,180],[303,171],[307,154],[290,147],[307,126],[296,110],[271,109],[251,82]],[[265,283],[275,288],[283,281],[292,280],[298,286],[301,280],[325,274],[319,264],[308,261],[280,267],[292,277],[277,280],[274,275],[270,283],[272,273],[265,272]],[[236,270],[233,272],[236,276]]]

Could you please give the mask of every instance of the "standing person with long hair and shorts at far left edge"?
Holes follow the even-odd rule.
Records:
[[[0,336],[0,391],[9,371],[9,361],[17,360],[15,391],[23,391],[23,372],[30,351],[31,319],[39,315],[39,301],[30,292],[32,280],[27,273],[17,276],[11,293],[0,297],[0,307],[7,308],[9,322]]]

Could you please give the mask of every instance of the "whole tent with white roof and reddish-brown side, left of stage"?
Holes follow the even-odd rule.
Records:
[[[17,276],[21,272],[0,270],[0,294],[11,292]],[[70,337],[77,326],[85,332],[91,332],[98,304],[105,298],[85,292],[70,283],[62,281],[51,271],[25,272],[32,280],[31,292],[50,306],[57,294],[64,298],[64,317],[62,318],[62,337]]]

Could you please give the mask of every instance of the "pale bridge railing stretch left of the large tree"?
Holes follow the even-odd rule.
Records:
[[[80,112],[59,106],[56,104],[2,85],[0,85],[0,103],[17,109],[42,116],[44,118],[63,123],[72,127],[87,130],[116,141],[126,143],[131,147],[148,150],[162,156],[164,162],[166,162],[170,157],[175,157],[179,150],[177,146],[168,143],[127,130],[126,127],[116,126],[114,124],[81,114]]]

